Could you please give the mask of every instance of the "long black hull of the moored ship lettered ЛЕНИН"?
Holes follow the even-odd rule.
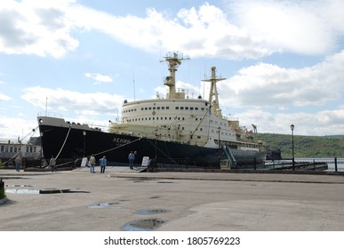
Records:
[[[78,158],[94,155],[97,161],[106,156],[108,165],[128,165],[128,154],[137,151],[136,164],[142,157],[156,158],[157,164],[188,165],[220,168],[220,160],[228,159],[222,149],[198,147],[172,141],[160,141],[131,135],[105,133],[98,130],[68,128],[40,124],[44,157],[58,157],[58,163],[71,164]],[[263,165],[265,153],[230,149],[236,159],[235,167]]]

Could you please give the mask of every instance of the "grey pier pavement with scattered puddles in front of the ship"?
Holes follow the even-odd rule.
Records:
[[[344,230],[343,175],[96,170],[0,170],[0,230]]]

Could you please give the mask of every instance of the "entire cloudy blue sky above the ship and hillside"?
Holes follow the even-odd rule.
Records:
[[[259,133],[344,134],[342,0],[2,0],[0,141],[39,136],[36,116],[100,125],[124,100],[177,87],[208,99],[215,66],[222,114]],[[33,129],[36,129],[33,133]]]

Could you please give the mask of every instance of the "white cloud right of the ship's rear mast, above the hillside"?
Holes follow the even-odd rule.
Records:
[[[308,68],[260,63],[241,69],[218,87],[221,103],[228,106],[323,106],[340,99],[343,78],[344,51]]]

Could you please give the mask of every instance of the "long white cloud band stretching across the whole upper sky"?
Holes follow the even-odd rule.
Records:
[[[203,4],[175,17],[153,8],[138,17],[110,15],[72,0],[6,0],[0,6],[0,52],[61,58],[78,46],[72,31],[94,29],[144,51],[183,51],[194,58],[324,54],[344,34],[343,10],[340,0],[243,0],[229,1],[228,12]]]

